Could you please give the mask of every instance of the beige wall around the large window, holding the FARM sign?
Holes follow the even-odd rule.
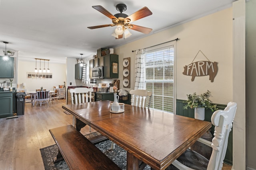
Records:
[[[134,58],[132,50],[150,47],[179,38],[176,43],[176,85],[177,99],[186,99],[186,94],[198,94],[210,90],[212,102],[227,104],[232,101],[232,8],[216,12],[203,18],[178,25],[176,27],[155,33],[132,43],[115,48],[119,55],[119,70],[122,73],[122,61],[131,57],[131,89],[134,88]],[[209,76],[196,77],[182,74],[183,66],[192,63],[194,57],[201,50],[206,57],[218,62],[218,73],[214,82]],[[202,54],[195,61],[207,60]],[[119,74],[120,82],[123,80]],[[125,88],[124,88],[125,89]],[[126,89],[130,90],[130,89]]]

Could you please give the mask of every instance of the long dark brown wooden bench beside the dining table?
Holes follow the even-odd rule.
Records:
[[[49,130],[70,170],[121,170],[72,125]],[[61,155],[60,155],[61,154]]]

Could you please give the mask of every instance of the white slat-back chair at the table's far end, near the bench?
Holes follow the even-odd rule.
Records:
[[[72,104],[92,102],[93,88],[79,87],[79,88],[70,89],[69,92],[71,95]],[[73,126],[75,126],[75,123],[76,123],[75,120],[76,118],[73,116]],[[91,127],[89,131],[91,131]]]

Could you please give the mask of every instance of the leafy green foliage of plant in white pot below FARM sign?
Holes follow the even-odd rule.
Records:
[[[191,109],[194,109],[195,107],[204,107],[206,109],[211,109],[211,111],[218,110],[216,107],[216,104],[212,104],[209,100],[210,91],[207,90],[204,94],[197,95],[196,92],[193,94],[187,94],[188,100],[184,101],[183,103],[186,103],[186,106],[183,107],[183,109],[188,109],[190,107]]]

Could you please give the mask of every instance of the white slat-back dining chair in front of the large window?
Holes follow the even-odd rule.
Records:
[[[130,90],[131,94],[131,105],[144,107],[148,106],[148,109],[151,104],[152,92],[148,90]]]

